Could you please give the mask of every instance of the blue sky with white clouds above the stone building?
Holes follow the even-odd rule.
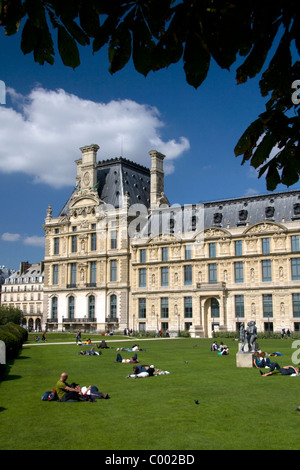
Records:
[[[19,42],[0,31],[0,80],[7,90],[0,105],[0,265],[18,269],[21,261],[43,259],[48,204],[57,215],[74,186],[79,147],[91,143],[100,146],[99,160],[122,154],[149,166],[150,150],[165,153],[172,204],[268,192],[233,151],[264,111],[259,77],[238,86],[236,66],[229,72],[212,63],[195,90],[182,63],[146,78],[132,64],[110,75],[106,49],[93,56],[81,48],[76,70],[58,55],[54,66],[40,66]]]

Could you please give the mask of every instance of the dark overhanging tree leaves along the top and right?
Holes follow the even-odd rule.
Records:
[[[195,88],[212,59],[223,69],[242,62],[237,83],[261,74],[269,100],[235,155],[265,175],[269,190],[298,181],[300,100],[291,99],[300,79],[298,0],[0,0],[0,25],[7,35],[19,31],[22,51],[40,64],[54,64],[55,45],[73,68],[79,46],[93,53],[106,46],[112,74],[130,59],[145,76],[182,61]]]

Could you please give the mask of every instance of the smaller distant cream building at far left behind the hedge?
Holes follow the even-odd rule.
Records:
[[[20,269],[4,281],[1,305],[18,308],[23,314],[23,325],[29,331],[41,331],[43,320],[44,263],[20,263]]]

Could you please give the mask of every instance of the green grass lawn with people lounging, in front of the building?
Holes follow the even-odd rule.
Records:
[[[261,377],[257,369],[236,367],[233,340],[224,340],[229,356],[211,352],[210,339],[140,340],[146,351],[138,352],[139,360],[170,375],[127,379],[132,364],[115,362],[124,338],[106,337],[111,349],[101,356],[80,356],[80,346],[62,344],[64,338],[53,336],[61,344],[50,344],[50,335],[46,344],[28,342],[10,364],[0,385],[1,450],[300,448],[300,377]],[[281,366],[292,363],[291,345],[291,340],[260,342],[263,350],[284,354],[274,358]],[[111,399],[41,401],[63,371],[70,381],[97,385]]]

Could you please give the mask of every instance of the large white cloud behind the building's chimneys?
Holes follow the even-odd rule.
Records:
[[[165,170],[190,148],[187,138],[164,141],[157,108],[131,100],[96,103],[59,89],[28,96],[8,89],[14,108],[0,108],[0,171],[23,172],[53,187],[73,185],[79,148],[98,144],[98,160],[122,156],[149,167],[150,150],[166,155]]]

